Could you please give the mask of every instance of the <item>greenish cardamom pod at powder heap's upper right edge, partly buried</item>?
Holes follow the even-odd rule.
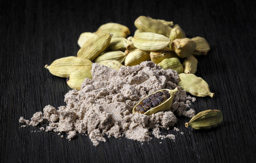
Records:
[[[178,58],[167,58],[162,60],[158,66],[161,66],[164,70],[172,69],[178,73],[183,73],[183,66]]]

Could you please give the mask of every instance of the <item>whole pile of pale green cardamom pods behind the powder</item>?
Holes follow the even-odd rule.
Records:
[[[203,37],[186,38],[178,24],[146,16],[138,17],[134,24],[137,30],[127,39],[129,28],[118,23],[103,24],[94,33],[82,33],[77,57],[60,58],[45,67],[53,75],[67,78],[72,89],[80,90],[84,79],[92,78],[92,62],[118,70],[151,60],[164,70],[177,71],[178,85],[186,92],[198,97],[214,97],[208,84],[194,74],[197,71],[195,57],[207,55],[210,50]]]

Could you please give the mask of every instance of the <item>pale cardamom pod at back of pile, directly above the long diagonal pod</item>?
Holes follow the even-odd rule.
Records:
[[[98,28],[96,33],[102,32],[111,33],[113,34],[113,37],[127,37],[127,35],[130,34],[130,30],[128,27],[118,23],[103,24],[101,27]]]

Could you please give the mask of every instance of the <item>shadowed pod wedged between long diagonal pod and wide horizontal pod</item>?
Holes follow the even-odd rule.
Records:
[[[111,39],[109,46],[105,49],[105,52],[109,51],[126,51],[133,46],[132,41],[128,41],[126,38],[123,37],[114,37]]]

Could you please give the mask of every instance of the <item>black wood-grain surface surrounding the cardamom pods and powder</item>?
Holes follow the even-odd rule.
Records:
[[[0,162],[255,162],[255,29],[253,1],[0,1]],[[76,55],[78,37],[101,24],[129,27],[140,16],[173,21],[187,37],[210,44],[198,58],[196,75],[208,82],[215,98],[197,98],[196,112],[218,109],[224,122],[199,131],[179,117],[162,130],[176,140],[141,142],[122,137],[92,146],[88,136],[68,141],[58,133],[20,128],[45,105],[65,105],[66,79],[44,66]],[[162,143],[160,143],[162,142]]]

